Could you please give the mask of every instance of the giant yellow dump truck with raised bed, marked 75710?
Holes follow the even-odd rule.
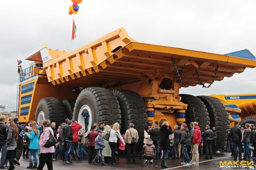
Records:
[[[231,55],[231,54],[230,54]],[[20,72],[19,119],[66,117],[86,128],[94,123],[120,123],[121,134],[134,123],[139,133],[168,121],[170,126],[197,121],[216,126],[217,146],[226,141],[228,113],[214,97],[179,94],[181,87],[212,85],[246,67],[256,67],[255,57],[232,57],[139,43],[120,28],[74,51],[49,49],[45,44],[26,54],[34,64]]]

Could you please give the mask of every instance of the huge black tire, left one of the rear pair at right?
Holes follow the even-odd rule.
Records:
[[[190,128],[191,122],[197,122],[201,132],[204,132],[205,126],[210,124],[209,114],[204,103],[195,96],[180,94],[181,102],[188,104],[186,110],[186,124]]]

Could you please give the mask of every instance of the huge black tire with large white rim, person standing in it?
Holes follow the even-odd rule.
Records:
[[[81,91],[76,99],[73,119],[85,128],[83,112],[89,113],[89,122],[85,136],[94,123],[105,121],[105,125],[121,124],[121,111],[116,96],[112,91],[101,87],[89,87]],[[86,129],[86,128],[85,128]]]

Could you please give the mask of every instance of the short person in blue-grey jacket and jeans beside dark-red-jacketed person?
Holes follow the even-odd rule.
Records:
[[[98,136],[95,138],[95,143],[94,143],[94,148],[97,151],[97,155],[93,160],[94,165],[97,165],[97,160],[100,155],[101,155],[101,164],[106,165],[106,163],[104,162],[104,153],[103,153],[103,148],[105,147],[105,144],[101,135],[102,135],[102,130],[98,130]]]

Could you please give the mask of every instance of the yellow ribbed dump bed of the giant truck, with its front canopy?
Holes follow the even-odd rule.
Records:
[[[70,52],[51,50],[44,44],[26,59],[43,62],[53,85],[72,87],[112,87],[166,75],[178,81],[176,71],[184,65],[181,87],[188,87],[200,84],[196,68],[202,83],[211,83],[217,65],[216,81],[256,67],[256,61],[250,59],[139,43],[124,28]]]

